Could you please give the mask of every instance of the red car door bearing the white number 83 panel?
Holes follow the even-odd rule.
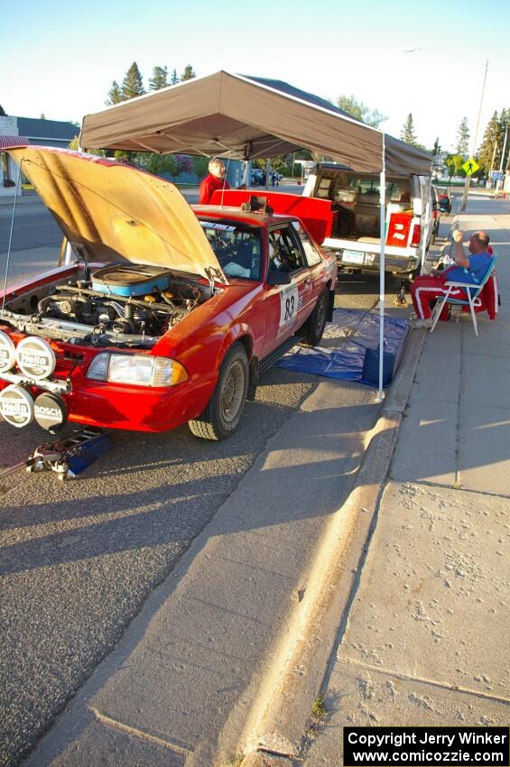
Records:
[[[268,275],[281,275],[286,284],[268,284]],[[264,356],[292,336],[310,314],[311,273],[299,238],[290,222],[267,233],[265,273],[266,338]]]

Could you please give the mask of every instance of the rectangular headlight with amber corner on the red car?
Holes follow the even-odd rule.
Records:
[[[101,352],[88,365],[86,377],[111,384],[161,387],[181,384],[188,374],[181,363],[168,357]]]

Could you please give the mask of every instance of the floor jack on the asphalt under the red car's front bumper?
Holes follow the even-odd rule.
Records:
[[[108,432],[86,428],[71,431],[54,442],[44,442],[19,464],[0,470],[0,478],[17,471],[50,469],[60,480],[72,479],[110,448]]]

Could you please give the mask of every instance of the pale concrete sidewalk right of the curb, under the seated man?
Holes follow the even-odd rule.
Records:
[[[510,215],[459,223],[489,232],[502,305],[426,334],[306,767],[343,764],[345,725],[510,719]]]

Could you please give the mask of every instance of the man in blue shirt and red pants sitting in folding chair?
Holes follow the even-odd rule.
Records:
[[[455,264],[441,272],[432,270],[431,275],[422,274],[413,280],[411,296],[416,312],[416,319],[412,320],[414,327],[432,328],[431,302],[433,301],[433,306],[447,294],[449,299],[469,302],[467,288],[449,286],[447,282],[473,285],[478,289],[487,274],[492,261],[492,255],[487,251],[489,247],[487,232],[473,232],[469,237],[469,255],[464,253],[462,247],[464,232],[454,229],[452,236],[455,241]],[[476,320],[473,321],[476,324]]]

